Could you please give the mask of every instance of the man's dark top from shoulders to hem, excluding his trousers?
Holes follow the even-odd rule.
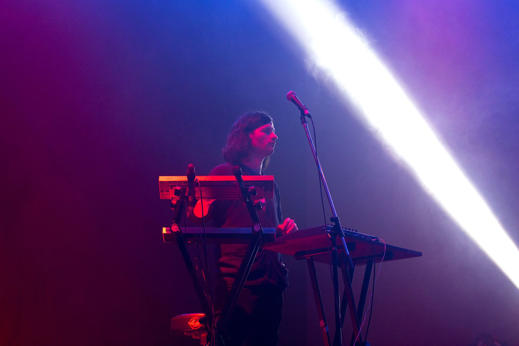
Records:
[[[240,165],[240,167],[244,176],[258,175],[245,165]],[[233,165],[230,163],[218,165],[209,175],[232,176]],[[218,199],[211,205],[210,212],[213,227],[252,227],[249,212],[239,199]],[[258,210],[258,217],[264,228],[276,228],[281,223],[281,202],[276,182],[274,182],[274,198],[265,199],[264,208]],[[216,256],[217,265],[221,271],[218,276],[221,276],[228,286],[234,282],[247,247],[248,244],[222,244],[220,246],[220,254]],[[280,254],[260,248],[245,286],[271,285],[285,289],[288,286],[287,274],[288,270],[285,268]]]

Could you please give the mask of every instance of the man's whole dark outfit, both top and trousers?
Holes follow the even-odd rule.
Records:
[[[257,172],[240,165],[244,176]],[[233,165],[216,166],[210,175],[233,176]],[[262,201],[263,202],[263,201]],[[264,228],[276,228],[281,216],[279,188],[274,182],[274,198],[265,199],[264,208],[257,211]],[[211,205],[213,227],[252,227],[252,220],[239,199],[218,199]],[[215,310],[223,309],[230,287],[234,282],[248,244],[222,244],[217,253]],[[283,313],[283,290],[288,286],[288,270],[281,255],[260,248],[245,281],[238,303],[227,329],[226,346],[275,346]]]

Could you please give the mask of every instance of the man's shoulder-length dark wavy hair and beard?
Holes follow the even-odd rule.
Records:
[[[240,116],[231,127],[229,136],[227,136],[227,144],[222,149],[225,162],[238,165],[244,158],[247,158],[252,145],[249,135],[258,127],[271,121],[272,118],[261,111],[246,112]],[[262,170],[267,168],[269,161],[269,157],[265,157]]]

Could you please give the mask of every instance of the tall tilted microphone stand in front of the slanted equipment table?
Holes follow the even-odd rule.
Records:
[[[345,257],[346,257],[346,263],[348,267],[352,270],[354,269],[353,261],[351,260],[350,252],[348,251],[348,247],[346,246],[346,241],[344,240],[344,232],[342,227],[340,227],[340,221],[339,217],[337,216],[337,212],[335,211],[335,206],[333,205],[332,196],[330,194],[330,190],[328,189],[328,185],[326,184],[326,179],[324,178],[324,174],[321,168],[321,164],[319,163],[319,158],[317,157],[316,147],[313,144],[312,137],[310,136],[310,131],[308,130],[308,124],[306,122],[306,115],[309,115],[308,111],[301,111],[301,124],[303,125],[306,137],[308,138],[308,143],[310,144],[310,148],[312,150],[313,158],[316,161],[317,169],[319,170],[319,178],[321,179],[323,185],[324,185],[324,191],[326,192],[326,196],[328,197],[328,202],[330,203],[330,208],[332,209],[333,217],[330,218],[330,221],[334,223],[332,229],[331,229],[331,236],[330,239],[332,241],[332,275],[333,275],[333,293],[334,293],[334,302],[335,302],[335,338],[334,338],[334,346],[340,346],[342,345],[342,329],[343,329],[343,323],[342,318],[340,317],[340,293],[339,293],[339,274],[338,274],[338,267],[339,267],[339,260],[337,255],[337,236],[340,237]],[[311,116],[310,116],[311,117]],[[356,305],[353,299],[353,289],[351,288],[351,280],[352,278],[349,277],[349,270],[345,270],[348,274],[348,280],[345,280],[345,283],[347,282],[348,285],[345,285],[345,295],[347,298],[347,305],[350,307],[350,317],[353,325],[353,334],[359,335],[360,330],[360,323],[359,323],[359,317],[357,316],[357,309]],[[344,307],[346,309],[347,307]],[[362,336],[359,335],[359,338],[355,344],[357,345],[363,345],[362,342]]]

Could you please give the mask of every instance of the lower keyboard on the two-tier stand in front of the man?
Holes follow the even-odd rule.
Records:
[[[201,241],[202,237],[207,238],[209,244],[249,244],[252,237],[250,227],[243,228],[210,228],[206,227],[206,234],[202,227],[182,228],[182,236],[187,243]],[[175,236],[169,227],[162,228],[162,237],[165,243],[175,242]],[[273,243],[276,240],[275,228],[263,229],[263,242]]]

